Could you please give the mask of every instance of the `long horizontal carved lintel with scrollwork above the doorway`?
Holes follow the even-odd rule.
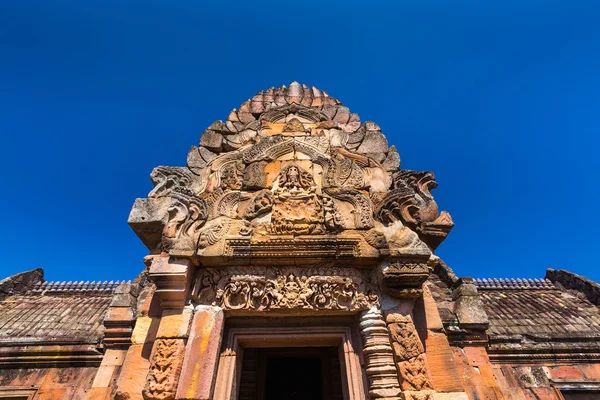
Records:
[[[193,298],[226,310],[368,309],[378,302],[368,277],[350,268],[207,268]]]

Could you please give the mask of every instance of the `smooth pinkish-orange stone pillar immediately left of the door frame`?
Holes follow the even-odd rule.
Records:
[[[223,310],[220,308],[210,306],[196,308],[177,387],[177,399],[208,400],[211,398],[217,373],[223,322]]]

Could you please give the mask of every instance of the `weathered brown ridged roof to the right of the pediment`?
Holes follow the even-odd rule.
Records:
[[[448,333],[471,334],[460,321],[461,285],[485,315],[489,349],[496,354],[600,352],[600,285],[568,271],[549,269],[543,279],[457,278],[440,263],[427,281]],[[465,304],[463,302],[463,304]],[[467,312],[463,315],[477,315]]]

